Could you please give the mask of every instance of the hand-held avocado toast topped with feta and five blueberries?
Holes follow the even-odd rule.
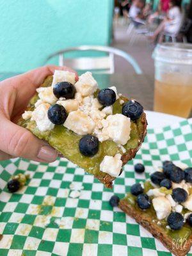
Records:
[[[147,133],[138,102],[118,94],[115,86],[99,90],[90,72],[75,82],[74,74],[63,70],[45,79],[18,124],[107,188]]]

